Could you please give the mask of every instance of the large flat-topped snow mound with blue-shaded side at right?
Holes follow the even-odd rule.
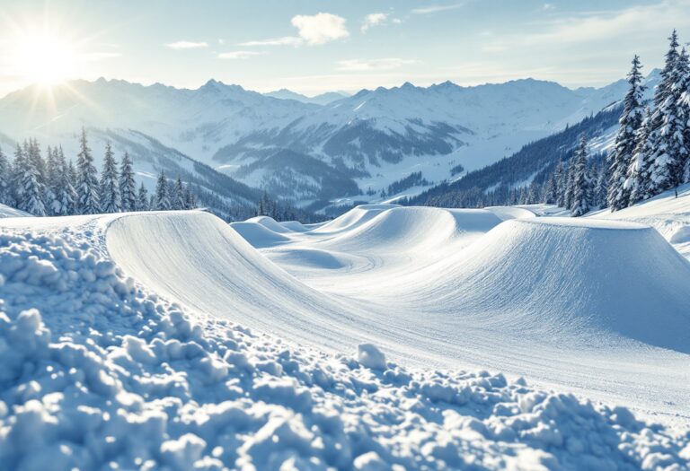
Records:
[[[426,278],[434,302],[489,313],[494,327],[585,342],[607,333],[690,353],[690,263],[650,227],[511,220],[445,264],[435,272],[452,277]]]

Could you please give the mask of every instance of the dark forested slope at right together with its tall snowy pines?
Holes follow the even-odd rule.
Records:
[[[690,181],[690,66],[686,48],[679,49],[677,31],[669,41],[650,103],[644,100],[640,57],[633,57],[628,92],[620,111],[615,109],[615,143],[607,155],[588,156],[587,135],[615,124],[612,107],[401,203],[459,207],[549,203],[577,216],[596,208],[617,211]],[[573,151],[571,143],[576,139]],[[530,184],[520,185],[525,180]]]

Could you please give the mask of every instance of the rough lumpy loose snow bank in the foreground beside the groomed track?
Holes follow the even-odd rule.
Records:
[[[192,320],[126,278],[94,227],[0,234],[4,469],[687,466],[687,433],[622,407]]]

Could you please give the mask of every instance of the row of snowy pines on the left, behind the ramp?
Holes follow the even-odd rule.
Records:
[[[142,182],[138,189],[132,161],[124,153],[118,163],[111,144],[105,146],[99,175],[93,165],[86,131],[82,129],[76,165],[62,147],[40,151],[36,139],[17,144],[14,159],[0,150],[0,203],[36,216],[119,213],[123,211],[190,209],[197,196],[180,177],[169,180],[161,170],[155,193],[148,196]]]

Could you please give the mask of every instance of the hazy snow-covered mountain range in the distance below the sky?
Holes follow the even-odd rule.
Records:
[[[533,79],[405,83],[321,106],[213,80],[187,90],[99,79],[50,95],[31,87],[7,95],[0,129],[55,144],[81,126],[110,135],[134,129],[250,186],[318,207],[376,194],[411,172],[434,183],[458,164],[482,168],[620,100],[625,89],[624,81],[577,90]]]

